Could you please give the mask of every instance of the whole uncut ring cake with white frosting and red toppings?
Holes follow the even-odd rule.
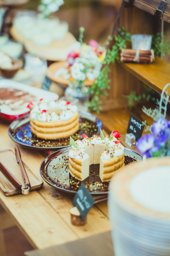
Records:
[[[79,129],[78,108],[65,100],[41,99],[37,105],[29,104],[31,131],[38,138],[56,140],[66,138]]]

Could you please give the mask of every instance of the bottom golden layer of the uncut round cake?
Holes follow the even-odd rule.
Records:
[[[71,136],[72,134],[76,133],[79,129],[79,123],[76,124],[72,129],[65,131],[65,132],[56,132],[56,133],[42,133],[42,132],[37,132],[32,126],[31,126],[31,132],[35,134],[38,138],[42,138],[45,140],[57,140],[60,138],[67,138]]]

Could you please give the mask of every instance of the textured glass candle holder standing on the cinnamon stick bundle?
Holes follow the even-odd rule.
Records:
[[[145,34],[135,34],[131,36],[132,49],[148,51],[151,49],[152,36]]]

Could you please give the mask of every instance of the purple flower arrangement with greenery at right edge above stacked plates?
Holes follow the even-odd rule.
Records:
[[[143,112],[154,119],[154,123],[151,126],[147,126],[146,121],[143,122],[147,126],[149,134],[143,135],[137,140],[136,148],[143,154],[145,158],[170,156],[170,121],[166,119],[166,110],[169,96],[166,94],[164,97],[164,91],[170,84],[167,84],[161,94],[158,108],[154,110],[143,108]],[[162,114],[163,110],[163,114]]]

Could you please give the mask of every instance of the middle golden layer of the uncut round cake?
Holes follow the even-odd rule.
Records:
[[[56,133],[56,132],[65,132],[65,131],[68,131],[68,130],[71,130],[72,128],[74,128],[76,126],[76,124],[78,124],[79,122],[79,118],[76,118],[76,120],[70,122],[69,124],[67,125],[64,125],[64,126],[57,126],[57,127],[39,127],[39,126],[36,126],[32,121],[30,121],[30,124],[31,124],[31,127],[36,130],[37,132],[41,132],[41,133]]]

